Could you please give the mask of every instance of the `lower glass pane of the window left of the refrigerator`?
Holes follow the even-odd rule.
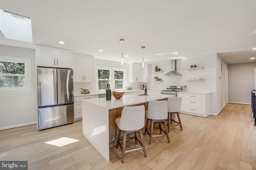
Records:
[[[0,76],[0,88],[24,88],[24,76]]]

